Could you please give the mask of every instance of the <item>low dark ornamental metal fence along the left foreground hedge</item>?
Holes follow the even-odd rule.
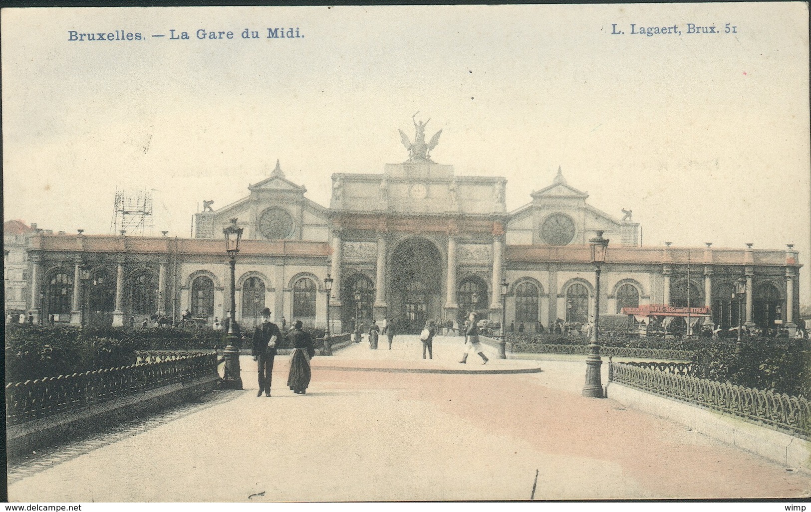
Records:
[[[213,352],[176,359],[167,356],[160,362],[9,383],[6,384],[6,425],[18,425],[212,374],[217,374],[217,354]]]

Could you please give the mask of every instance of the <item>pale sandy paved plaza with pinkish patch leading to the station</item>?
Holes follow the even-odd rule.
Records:
[[[416,336],[315,357],[307,395],[215,391],[41,450],[9,471],[11,501],[390,501],[802,497],[809,475],[684,425],[581,397],[582,361],[491,361],[458,369],[460,338],[421,358]],[[540,366],[543,370],[537,373]],[[396,371],[386,371],[386,370]],[[603,368],[605,380],[607,368]]]

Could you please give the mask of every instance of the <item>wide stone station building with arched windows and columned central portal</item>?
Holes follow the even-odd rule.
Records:
[[[188,309],[212,322],[230,309],[223,228],[236,219],[243,229],[235,287],[242,322],[265,306],[277,321],[321,327],[329,308],[333,332],[350,329],[356,317],[395,318],[412,332],[427,318],[473,310],[499,322],[504,281],[507,323],[526,329],[559,318],[588,322],[595,301],[601,314],[617,314],[688,300],[727,327],[738,322],[732,293],[739,277],[746,280],[746,324],[793,326],[799,318],[792,245],[645,246],[630,212],[620,219],[600,211],[561,169],[517,210],[506,211],[505,190],[503,177],[457,176],[452,165],[412,155],[382,173],[334,173],[327,207],[307,198],[277,162],[244,198],[196,214],[195,237],[27,235],[20,289],[35,321],[54,315],[79,323],[85,314],[91,322],[134,318],[139,325],[152,314]],[[611,240],[600,297],[589,246],[597,230]],[[79,279],[82,269],[88,279]]]

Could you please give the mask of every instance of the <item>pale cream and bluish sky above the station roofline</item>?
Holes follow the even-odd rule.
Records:
[[[332,173],[407,158],[418,112],[438,163],[507,178],[508,210],[560,166],[594,207],[633,210],[644,245],[795,244],[811,303],[808,19],[799,2],[3,9],[3,213],[109,233],[115,190],[152,190],[154,233],[187,237],[204,199],[244,197],[277,159],[328,206]]]

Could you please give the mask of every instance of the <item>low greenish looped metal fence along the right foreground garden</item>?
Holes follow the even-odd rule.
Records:
[[[811,402],[808,399],[690,377],[678,373],[680,369],[677,367],[674,372],[654,369],[655,365],[663,363],[649,365],[654,366],[609,362],[608,381],[726,412],[792,436],[808,439],[811,434]]]

